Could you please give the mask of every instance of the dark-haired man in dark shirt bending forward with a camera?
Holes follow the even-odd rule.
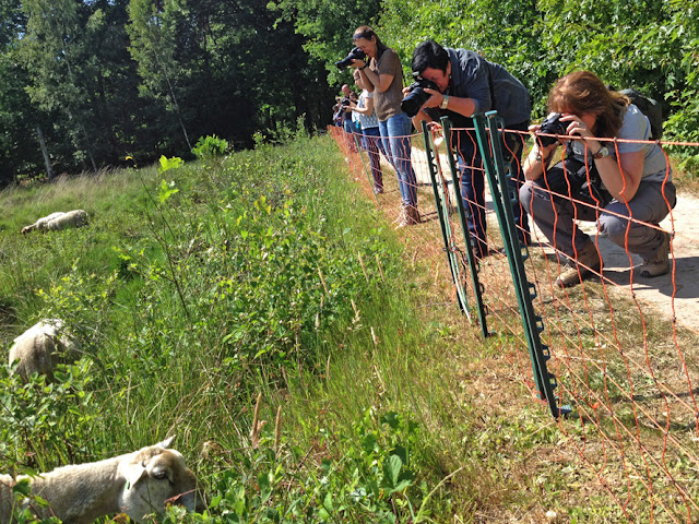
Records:
[[[452,147],[460,155],[461,193],[470,215],[472,245],[476,255],[486,257],[485,180],[471,117],[497,110],[502,118],[505,163],[510,164],[512,183],[518,189],[524,181],[520,160],[532,110],[529,92],[502,66],[469,49],[445,48],[435,40],[415,48],[412,68],[413,74],[437,85],[437,90],[425,90],[431,96],[413,118],[415,128],[422,129],[423,120],[438,121],[445,116],[454,128],[466,128],[452,135]],[[520,241],[529,243],[529,221],[519,203],[514,204],[514,222]]]

